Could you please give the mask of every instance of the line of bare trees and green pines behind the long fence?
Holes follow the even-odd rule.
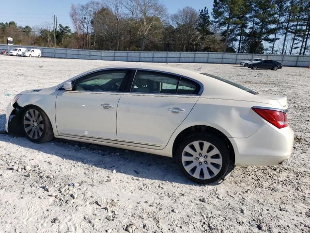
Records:
[[[171,15],[159,0],[91,0],[69,14],[74,28],[57,26],[57,47],[310,54],[310,0],[214,0],[211,13],[186,6]],[[0,23],[0,40],[15,32],[15,42],[51,47],[53,31]]]

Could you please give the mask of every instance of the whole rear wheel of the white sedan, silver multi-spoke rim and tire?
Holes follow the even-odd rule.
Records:
[[[210,133],[194,134],[183,140],[176,151],[183,174],[196,183],[214,183],[229,167],[229,152],[223,140]]]

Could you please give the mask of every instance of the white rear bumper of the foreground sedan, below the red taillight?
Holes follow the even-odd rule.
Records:
[[[278,165],[291,157],[294,132],[290,127],[278,129],[266,123],[247,138],[233,138],[235,165]]]

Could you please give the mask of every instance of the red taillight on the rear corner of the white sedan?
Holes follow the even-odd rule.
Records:
[[[273,124],[279,129],[289,125],[286,113],[275,109],[252,108],[255,113],[262,116],[266,121]]]

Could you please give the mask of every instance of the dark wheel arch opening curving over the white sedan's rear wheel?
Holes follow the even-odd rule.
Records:
[[[233,144],[226,136],[224,133],[219,131],[218,129],[212,127],[212,126],[207,126],[207,125],[193,125],[190,127],[187,127],[186,129],[182,130],[178,135],[175,137],[173,141],[173,146],[172,146],[172,157],[175,157],[175,152],[177,150],[177,146],[180,144],[180,142],[188,137],[189,135],[192,135],[194,133],[212,133],[219,137],[220,139],[223,139],[225,144],[227,145],[228,151],[229,151],[229,156],[231,160],[231,164],[234,164],[235,161],[235,151],[233,148]]]

